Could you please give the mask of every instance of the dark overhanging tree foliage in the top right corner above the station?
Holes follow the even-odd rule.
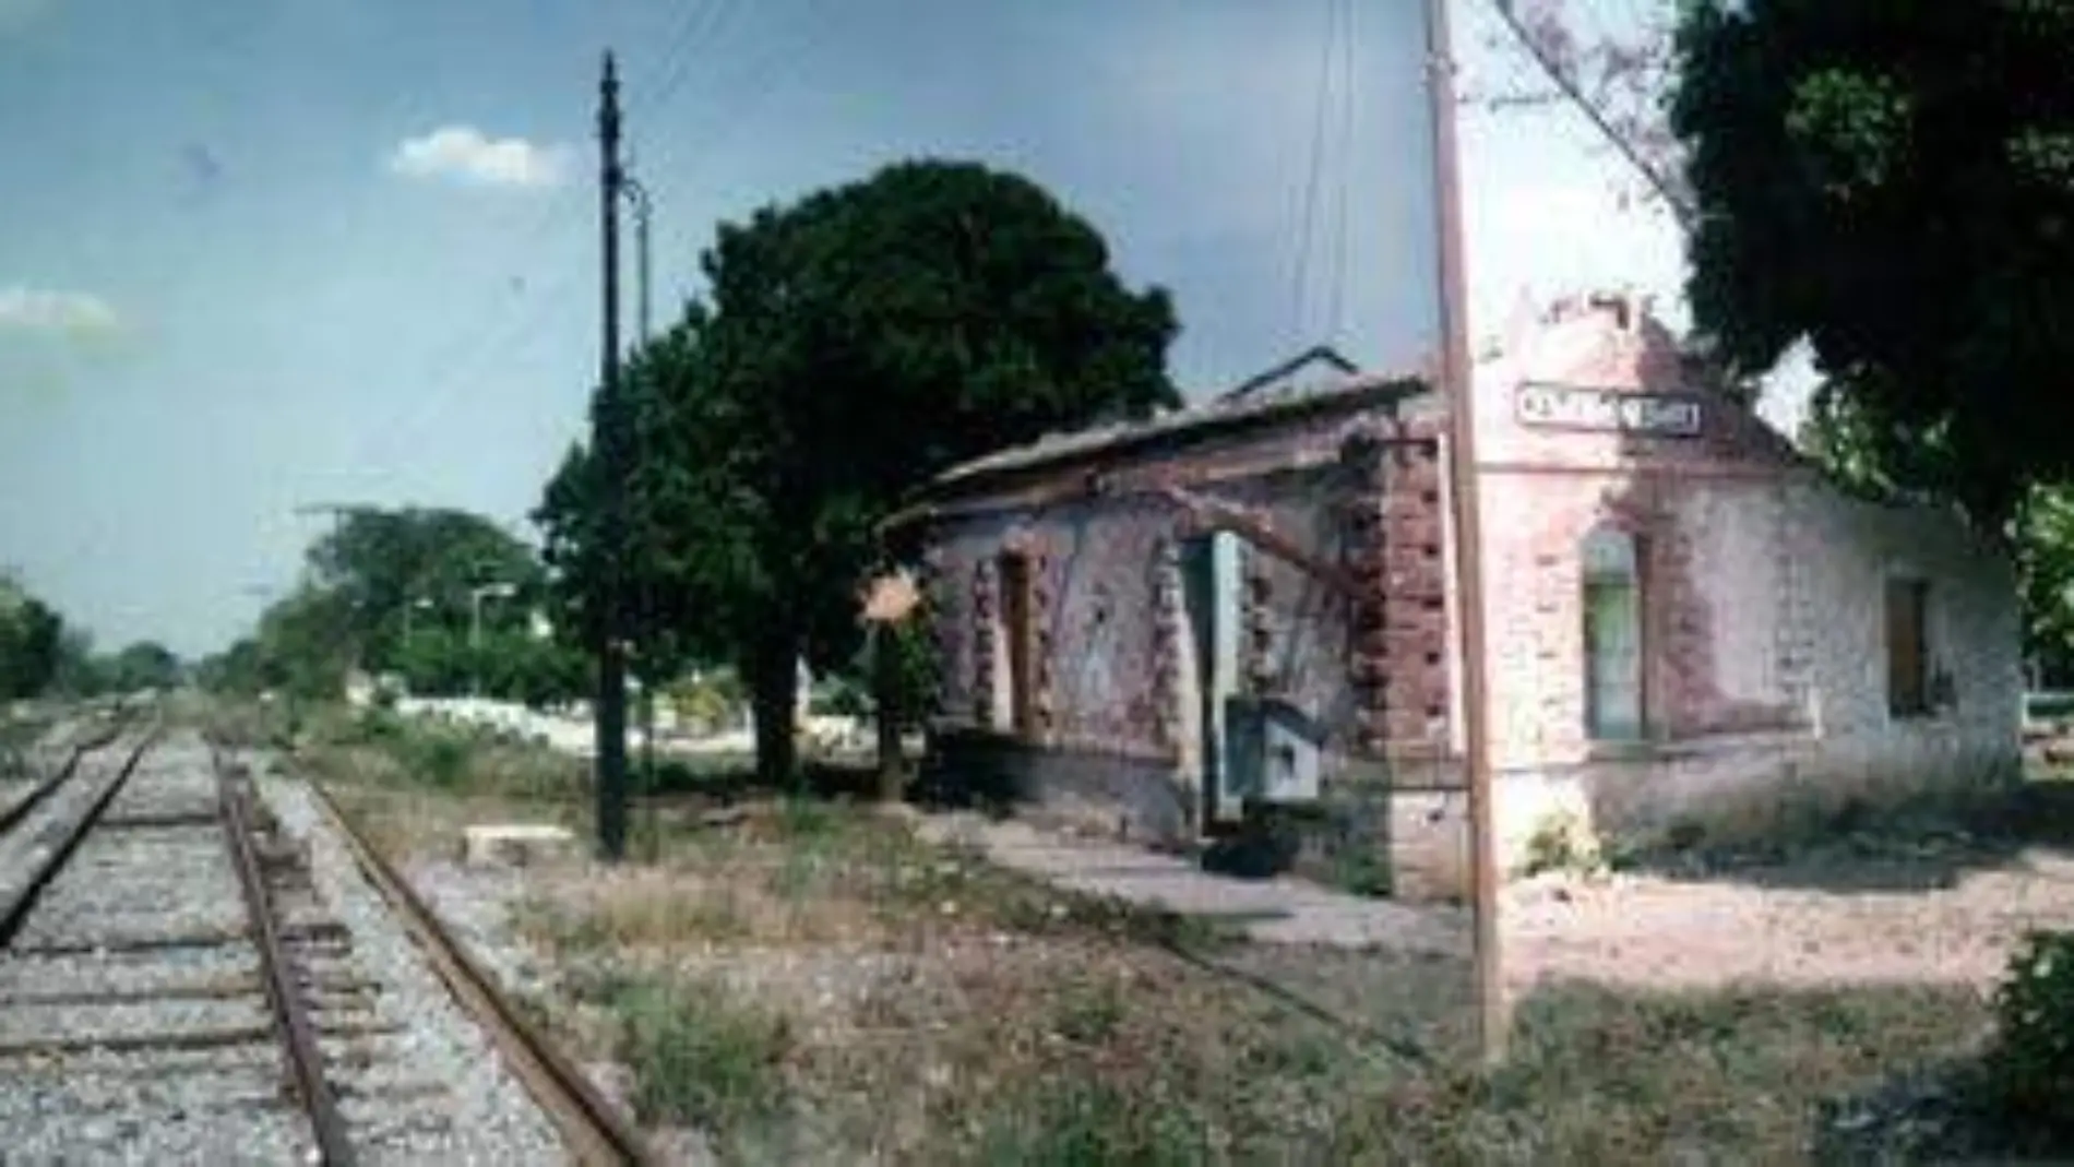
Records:
[[[1898,485],[1991,529],[2074,471],[2074,0],[1705,0],[1672,124],[1692,309],[1738,367],[1806,338]]]

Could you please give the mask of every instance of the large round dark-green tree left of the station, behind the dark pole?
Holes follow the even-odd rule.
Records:
[[[724,224],[701,267],[707,298],[626,377],[628,576],[672,630],[657,653],[742,670],[757,767],[786,779],[796,661],[854,657],[875,522],[958,460],[1178,404],[1174,309],[1035,182],[958,162]],[[577,448],[537,514],[581,614],[599,497]]]

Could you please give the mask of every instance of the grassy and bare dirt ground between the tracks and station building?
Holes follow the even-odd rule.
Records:
[[[2066,817],[1535,877],[1483,1080],[1431,945],[1232,943],[857,806],[686,804],[649,862],[477,869],[463,823],[583,808],[344,794],[686,1161],[1806,1161],[1823,1099],[1974,1049],[2022,933],[2074,929]]]

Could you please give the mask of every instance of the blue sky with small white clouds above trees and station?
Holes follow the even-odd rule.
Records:
[[[608,46],[662,319],[716,222],[931,153],[1037,178],[1172,288],[1190,392],[1317,340],[1410,365],[1417,4],[1354,0],[1350,35],[1336,8],[0,0],[0,570],[108,647],[201,653],[295,580],[299,506],[525,533],[597,367]],[[1458,12],[1468,81],[1518,68]],[[1676,315],[1676,234],[1618,209],[1574,116],[1464,110],[1462,137],[1475,328],[1605,284]]]

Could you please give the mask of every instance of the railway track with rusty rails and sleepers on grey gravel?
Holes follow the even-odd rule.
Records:
[[[0,1161],[622,1161],[558,1136],[355,864],[193,732],[81,752],[0,833]]]

